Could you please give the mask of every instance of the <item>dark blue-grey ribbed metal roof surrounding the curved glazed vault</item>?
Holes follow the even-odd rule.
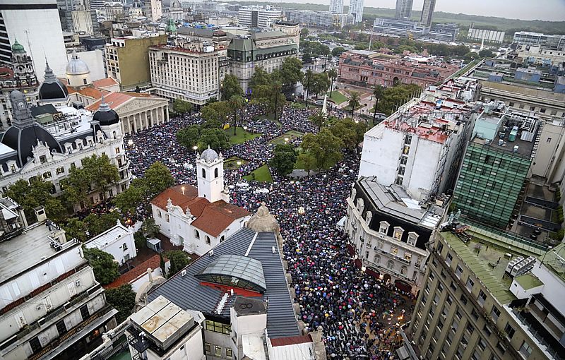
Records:
[[[273,253],[272,249],[275,248]],[[275,234],[272,232],[256,233],[243,228],[213,248],[213,256],[201,256],[184,270],[170,278],[148,294],[148,301],[157,296],[165,296],[184,309],[201,311],[205,316],[225,318],[230,321],[230,306],[237,296],[228,296],[225,305],[217,313],[218,304],[225,296],[222,289],[201,284],[195,275],[215,262],[222,255],[248,256],[261,262],[265,278],[266,292],[256,299],[268,300],[267,330],[269,337],[289,337],[300,335],[292,299],[288,291],[283,261],[280,258]]]

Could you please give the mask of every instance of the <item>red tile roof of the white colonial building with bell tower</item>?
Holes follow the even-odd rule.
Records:
[[[184,187],[184,194],[182,188]],[[218,200],[210,203],[206,198],[198,198],[198,189],[192,185],[177,185],[167,188],[155,196],[151,203],[157,208],[167,210],[167,200],[171,199],[173,205],[177,205],[196,217],[192,225],[201,229],[211,236],[220,235],[234,220],[246,217],[251,213],[239,206]]]

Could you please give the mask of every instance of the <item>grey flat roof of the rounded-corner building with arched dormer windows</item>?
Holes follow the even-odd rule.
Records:
[[[439,224],[446,210],[443,206],[435,204],[422,208],[401,186],[381,185],[376,182],[376,176],[359,179],[359,184],[369,194],[379,211],[428,229],[434,229]]]

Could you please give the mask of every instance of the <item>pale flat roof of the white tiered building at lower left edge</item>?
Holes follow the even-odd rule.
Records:
[[[25,233],[0,243],[0,282],[28,270],[43,260],[57,255],[51,241],[61,238],[61,230],[37,224],[28,227]],[[59,244],[62,249],[76,245],[75,241]]]

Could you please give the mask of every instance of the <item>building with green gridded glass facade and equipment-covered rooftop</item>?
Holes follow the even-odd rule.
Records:
[[[502,229],[509,225],[519,210],[540,124],[537,116],[510,112],[504,105],[484,109],[453,193],[463,215]]]

